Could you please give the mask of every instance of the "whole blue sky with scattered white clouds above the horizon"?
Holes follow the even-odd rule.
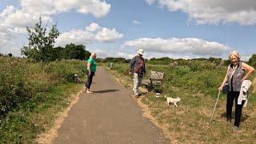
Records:
[[[253,0],[2,0],[0,53],[20,56],[26,26],[37,18],[58,23],[56,46],[86,45],[99,57],[227,58],[256,53]],[[1,42],[2,41],[2,42]]]

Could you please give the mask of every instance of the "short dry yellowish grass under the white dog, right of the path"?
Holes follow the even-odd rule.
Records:
[[[177,69],[174,68],[174,70]],[[118,70],[109,71],[115,78],[119,78],[122,84],[131,89],[132,80],[124,73],[126,71],[125,68],[120,66]],[[170,71],[170,74],[173,73]],[[214,92],[213,88],[205,91],[200,90],[197,86],[200,85],[200,81],[205,81],[207,84],[207,82],[211,82],[211,79],[217,81],[221,78],[219,75],[214,75],[209,80],[206,78],[200,80],[202,76],[207,77],[207,75],[202,74],[201,72],[201,74],[198,73],[199,76],[193,75],[193,78],[191,78],[190,73],[188,75],[184,74],[180,79],[186,85],[183,86],[182,82],[180,82],[180,86],[172,86],[170,83],[171,79],[170,81],[168,79],[170,75],[166,73],[165,94],[172,98],[182,98],[182,102],[178,104],[178,107],[167,106],[166,98],[163,97],[165,94],[162,94],[160,98],[156,98],[154,93],[148,93],[139,99],[140,102],[146,105],[146,107],[142,108],[149,110],[150,115],[154,118],[153,121],[157,122],[159,127],[166,131],[166,134],[174,143],[254,143],[256,138],[255,94],[250,95],[250,104],[243,108],[242,122],[238,132],[232,130],[234,119],[231,123],[226,122],[226,95],[224,94],[221,94],[214,114],[214,120],[209,124],[218,95]],[[190,78],[186,79],[189,76]],[[172,77],[175,78],[175,75]],[[215,85],[211,84],[210,86],[215,87]]]

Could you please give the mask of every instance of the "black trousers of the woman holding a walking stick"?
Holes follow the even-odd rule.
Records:
[[[226,118],[231,118],[233,102],[235,99],[235,116],[234,116],[234,126],[239,126],[241,121],[242,106],[245,101],[242,101],[242,105],[238,105],[238,91],[231,91],[226,97]]]

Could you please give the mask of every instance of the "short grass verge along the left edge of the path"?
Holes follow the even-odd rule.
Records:
[[[45,133],[54,126],[54,120],[59,112],[66,109],[82,89],[82,84],[66,83],[51,87],[44,93],[41,102],[34,110],[18,110],[10,112],[6,121],[1,122],[1,143],[36,143],[38,134]]]

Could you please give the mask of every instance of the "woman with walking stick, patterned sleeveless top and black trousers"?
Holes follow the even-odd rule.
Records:
[[[222,85],[218,87],[218,90],[222,90],[226,82],[229,83],[229,90],[226,99],[226,121],[231,122],[231,114],[233,102],[235,99],[235,118],[233,130],[238,130],[241,114],[242,105],[238,105],[238,96],[240,94],[242,82],[250,77],[254,73],[254,68],[247,65],[245,62],[240,61],[240,55],[237,51],[233,51],[229,55],[231,64],[228,66],[226,77],[224,78]]]

